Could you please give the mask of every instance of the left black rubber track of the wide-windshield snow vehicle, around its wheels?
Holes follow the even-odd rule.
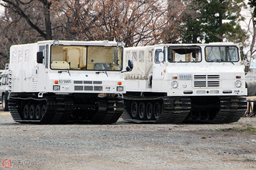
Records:
[[[22,109],[19,109],[17,99],[9,100],[9,109],[13,120],[19,123],[64,124],[71,116],[73,110],[73,101],[69,97],[47,98],[47,112],[44,114],[41,120],[22,120],[22,117],[20,116],[22,115]]]

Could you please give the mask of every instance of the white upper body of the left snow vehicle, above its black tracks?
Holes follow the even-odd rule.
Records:
[[[80,53],[86,53],[84,46],[93,46],[95,49],[99,46],[116,46],[116,42],[72,42],[72,41],[59,41],[61,46],[64,47],[64,53],[57,53],[54,59],[50,60],[50,48],[61,50],[61,46],[54,46],[54,41],[36,42],[33,44],[12,46],[10,49],[10,70],[12,72],[12,93],[22,92],[36,92],[40,95],[43,93],[123,93],[122,88],[118,89],[119,82],[122,83],[121,87],[124,88],[123,73],[115,71],[115,69],[107,70],[106,73],[95,73],[93,69],[95,64],[108,63],[109,60],[104,60],[102,56],[97,53],[88,58],[88,66],[90,70],[83,70],[78,68],[79,64],[86,65],[81,62]],[[80,47],[81,46],[81,47]],[[80,49],[79,49],[80,48]],[[43,64],[36,63],[36,53],[43,52],[47,59],[43,59]],[[93,52],[95,53],[95,52]],[[99,51],[100,53],[100,51]],[[101,53],[100,55],[102,55]],[[71,55],[79,56],[71,58]],[[64,57],[69,57],[69,60],[64,61]],[[79,60],[80,59],[80,60]],[[94,61],[92,61],[92,59]],[[71,66],[68,65],[71,61]],[[86,59],[85,59],[86,61]],[[72,68],[74,67],[74,69]],[[118,66],[113,66],[118,67]],[[69,73],[67,71],[69,70]],[[102,70],[102,72],[105,70]],[[56,83],[58,81],[58,83]],[[81,82],[82,81],[82,82]],[[86,82],[88,81],[88,82]],[[82,88],[85,87],[85,88]],[[88,89],[88,90],[86,90]]]

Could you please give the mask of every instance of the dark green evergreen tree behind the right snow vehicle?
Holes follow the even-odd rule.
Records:
[[[243,0],[197,0],[199,19],[187,19],[184,42],[244,42],[246,32],[239,21]]]

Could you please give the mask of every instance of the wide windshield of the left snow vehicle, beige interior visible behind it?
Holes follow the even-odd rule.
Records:
[[[57,70],[122,70],[122,47],[51,46],[50,68]]]

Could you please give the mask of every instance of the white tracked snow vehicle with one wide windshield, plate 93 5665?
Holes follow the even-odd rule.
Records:
[[[9,70],[14,121],[111,124],[123,113],[122,42],[16,45],[10,49]]]

